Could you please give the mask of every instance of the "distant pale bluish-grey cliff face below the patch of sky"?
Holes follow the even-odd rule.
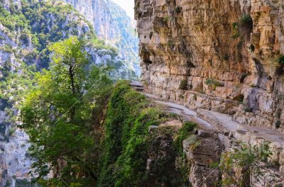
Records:
[[[99,38],[118,48],[119,56],[129,67],[141,74],[138,37],[124,9],[111,0],[65,0],[72,4],[94,26]]]

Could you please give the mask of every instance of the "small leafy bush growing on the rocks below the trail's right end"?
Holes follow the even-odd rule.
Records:
[[[268,164],[268,159],[272,155],[269,145],[270,142],[263,142],[259,146],[241,143],[233,152],[224,153],[220,161],[220,169],[224,176],[222,185],[251,186],[251,179],[258,181],[265,178],[266,171],[263,171],[262,167],[263,162]],[[242,170],[241,175],[236,174],[237,169]]]

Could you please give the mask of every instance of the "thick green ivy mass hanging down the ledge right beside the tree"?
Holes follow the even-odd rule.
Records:
[[[149,108],[145,96],[128,81],[118,81],[111,95],[104,124],[105,140],[98,186],[143,186],[151,135],[148,128],[173,115]]]

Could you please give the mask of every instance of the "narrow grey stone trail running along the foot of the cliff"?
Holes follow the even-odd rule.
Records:
[[[220,132],[220,134],[233,136],[237,140],[244,142],[261,142],[263,140],[271,142],[278,149],[284,151],[284,136],[277,130],[268,128],[258,128],[249,125],[243,125],[234,121],[231,115],[207,111],[197,108],[192,111],[185,106],[171,101],[165,101],[158,96],[143,92],[143,85],[137,81],[131,81],[131,86],[137,91],[147,96],[151,101],[165,107],[170,113],[180,115],[184,120],[189,120],[198,124],[198,128],[209,132]],[[217,130],[217,128],[218,130]]]

